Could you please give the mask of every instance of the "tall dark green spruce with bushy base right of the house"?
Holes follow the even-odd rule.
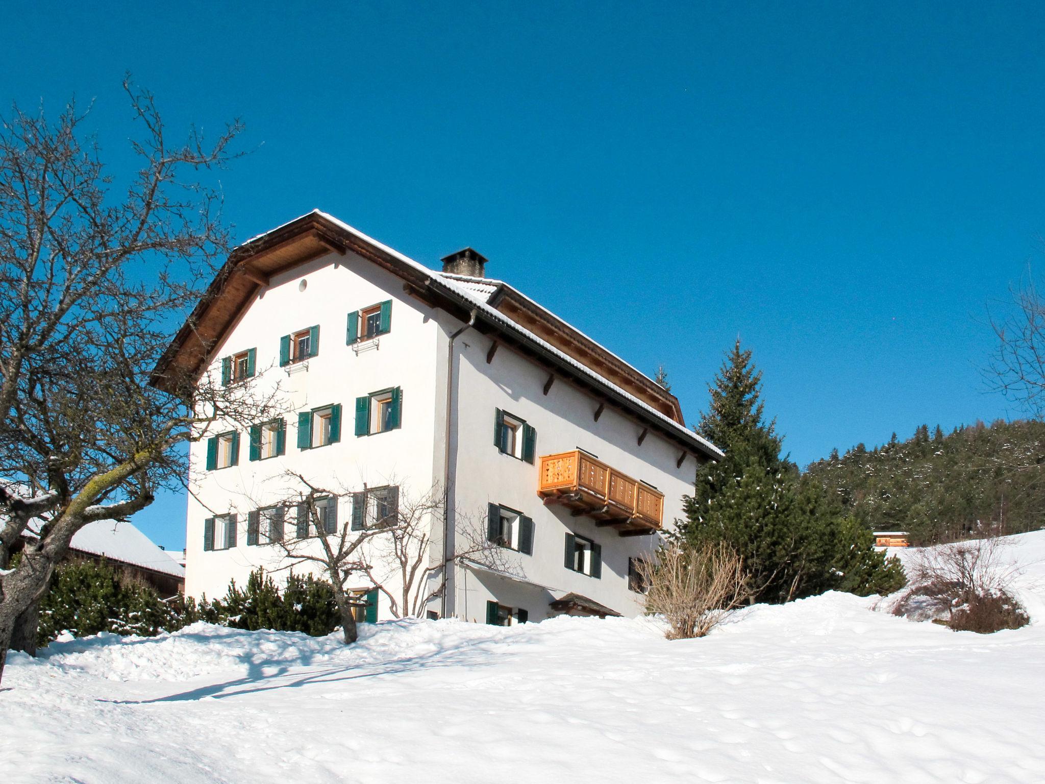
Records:
[[[899,584],[882,575],[869,535],[843,526],[840,503],[781,456],[782,439],[775,422],[765,418],[761,385],[751,352],[737,341],[698,426],[725,456],[697,469],[679,535],[693,545],[724,541],[736,550],[762,601],[842,585],[855,593],[899,589],[902,573]]]

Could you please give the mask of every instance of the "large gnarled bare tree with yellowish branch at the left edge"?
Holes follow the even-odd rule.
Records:
[[[0,125],[0,675],[13,642],[31,652],[73,535],[183,481],[177,446],[215,416],[256,421],[272,403],[207,378],[149,385],[227,249],[218,191],[199,178],[240,125],[171,143],[152,95],[124,89],[140,134],[122,192],[74,106],[53,122],[15,108]]]

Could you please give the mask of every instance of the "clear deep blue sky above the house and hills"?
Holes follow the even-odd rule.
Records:
[[[114,156],[125,70],[173,128],[241,116],[240,238],[474,246],[691,422],[738,335],[803,465],[1019,413],[979,369],[1045,231],[1041,3],[3,5],[0,100],[94,97]]]

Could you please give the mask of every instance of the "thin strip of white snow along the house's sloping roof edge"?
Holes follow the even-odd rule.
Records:
[[[645,402],[644,400],[640,400],[637,397],[635,397],[634,395],[632,395],[630,392],[625,391],[624,389],[622,389],[621,387],[619,387],[617,384],[614,384],[613,382],[611,382],[608,378],[606,378],[601,373],[598,373],[595,370],[593,370],[591,368],[589,368],[587,365],[584,365],[583,363],[578,362],[573,356],[571,356],[570,354],[565,353],[564,351],[561,351],[560,349],[556,348],[555,346],[553,346],[551,343],[547,342],[545,340],[543,340],[541,338],[538,338],[536,335],[534,335],[533,332],[531,332],[529,329],[527,329],[526,327],[524,327],[518,322],[514,321],[513,319],[508,318],[503,313],[501,313],[496,308],[492,307],[488,303],[488,301],[487,301],[489,299],[490,295],[489,294],[485,294],[485,296],[484,296],[485,286],[480,282],[481,280],[486,280],[486,278],[470,278],[470,279],[468,279],[467,284],[465,284],[464,281],[459,281],[459,280],[455,280],[454,279],[455,277],[461,277],[461,276],[448,276],[448,275],[443,275],[441,273],[436,273],[433,270],[429,270],[424,264],[420,263],[419,261],[415,261],[414,259],[410,258],[409,256],[405,256],[402,253],[399,253],[399,251],[396,251],[396,250],[394,250],[392,248],[389,248],[384,243],[377,241],[373,237],[371,237],[371,236],[369,236],[367,234],[364,234],[358,229],[356,229],[356,228],[354,228],[352,226],[349,226],[344,221],[341,221],[341,220],[334,217],[333,215],[331,215],[331,214],[329,214],[327,212],[323,212],[322,210],[318,210],[318,209],[317,210],[312,210],[312,212],[315,214],[317,214],[317,215],[323,216],[327,221],[330,221],[331,223],[333,223],[336,226],[341,227],[343,230],[349,232],[350,234],[354,234],[356,237],[358,237],[359,239],[364,240],[365,243],[369,243],[369,244],[375,246],[376,248],[379,248],[380,250],[382,250],[384,252],[388,253],[389,255],[394,256],[395,258],[397,258],[399,261],[401,261],[401,262],[403,262],[403,263],[405,263],[405,264],[414,268],[418,272],[424,274],[433,283],[435,283],[436,285],[445,287],[450,293],[456,294],[458,298],[465,300],[466,303],[468,303],[471,307],[474,307],[478,312],[481,312],[486,317],[487,321],[494,322],[495,324],[497,324],[501,327],[507,327],[508,329],[510,329],[510,330],[518,333],[520,337],[522,337],[528,342],[530,342],[532,344],[535,344],[537,346],[540,346],[540,348],[543,349],[545,352],[548,352],[548,353],[553,354],[554,356],[556,356],[560,362],[563,362],[563,363],[570,365],[575,370],[580,371],[581,373],[583,373],[587,377],[591,378],[593,381],[599,383],[600,385],[611,389],[613,392],[616,392],[617,394],[619,394],[622,397],[626,398],[632,405],[637,406],[638,408],[641,408],[644,412],[646,412],[650,416],[655,417],[664,425],[670,428],[672,431],[674,431],[679,436],[683,436],[688,441],[690,441],[691,443],[693,443],[693,445],[696,448],[699,448],[701,452],[710,454],[713,457],[723,457],[724,456],[725,453],[723,453],[718,446],[716,446],[715,444],[713,444],[707,439],[703,438],[702,436],[698,435],[697,433],[694,433],[689,428],[687,428],[684,424],[680,424],[680,423],[676,422],[670,416],[668,416],[667,414],[664,414],[664,413],[657,411],[656,409],[654,409],[652,406],[650,406],[649,403]],[[590,340],[590,339],[588,339],[588,340]],[[595,341],[593,341],[593,343]]]

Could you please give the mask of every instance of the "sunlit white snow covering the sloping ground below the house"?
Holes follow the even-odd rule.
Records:
[[[828,594],[677,642],[559,618],[55,643],[4,673],[0,781],[1043,782],[1045,532],[1013,541],[1034,623],[991,636]]]

